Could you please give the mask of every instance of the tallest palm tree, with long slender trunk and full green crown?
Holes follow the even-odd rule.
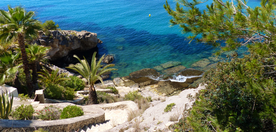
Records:
[[[33,11],[26,12],[22,6],[11,8],[8,5],[8,11],[0,10],[1,16],[4,16],[6,23],[0,25],[0,43],[11,43],[18,41],[20,47],[24,73],[26,75],[28,94],[32,96],[34,86],[31,80],[29,61],[25,50],[25,39],[38,39],[39,31],[42,31],[41,22],[34,19]]]

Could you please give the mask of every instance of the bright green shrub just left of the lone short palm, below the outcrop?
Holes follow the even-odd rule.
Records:
[[[83,90],[85,87],[85,82],[76,76],[70,76],[70,79],[63,81],[62,86],[63,87],[70,87],[72,89],[75,89],[75,91]]]

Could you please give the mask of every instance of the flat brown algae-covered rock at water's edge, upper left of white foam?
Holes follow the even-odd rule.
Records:
[[[156,72],[156,70],[151,68],[142,69],[136,72],[131,72],[129,76],[133,79],[139,78],[139,77],[158,77],[160,76],[159,72]]]

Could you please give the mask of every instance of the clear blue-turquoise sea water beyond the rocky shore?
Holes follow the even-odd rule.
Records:
[[[62,30],[97,33],[103,41],[98,45],[99,55],[115,56],[118,71],[112,77],[118,77],[168,61],[190,67],[211,56],[211,46],[189,44],[180,28],[169,27],[171,17],[163,8],[164,3],[165,0],[0,0],[0,9],[6,10],[8,4],[22,5],[36,11],[42,22],[55,21]],[[173,0],[168,3],[175,5]],[[250,0],[249,5],[259,5],[259,0]]]

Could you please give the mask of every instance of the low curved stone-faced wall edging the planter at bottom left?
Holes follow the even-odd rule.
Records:
[[[16,130],[18,132],[34,131],[42,128],[47,131],[70,131],[77,130],[92,123],[102,123],[105,121],[104,110],[101,108],[92,108],[91,114],[83,116],[53,120],[53,121],[29,121],[29,120],[0,120],[0,131]]]

